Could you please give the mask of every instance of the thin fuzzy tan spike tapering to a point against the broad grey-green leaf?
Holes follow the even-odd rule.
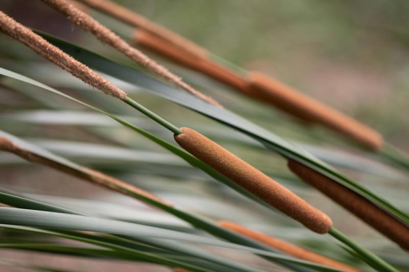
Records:
[[[199,97],[201,100],[206,101],[215,106],[221,107],[218,102],[213,98],[202,94],[190,85],[186,84],[181,78],[174,75],[164,66],[156,63],[148,56],[143,54],[141,51],[130,46],[126,41],[121,39],[117,34],[110,31],[108,28],[103,26],[97,20],[89,16],[88,14],[82,12],[74,5],[66,2],[65,0],[42,0],[48,5],[54,7],[56,10],[65,14],[70,18],[70,20],[76,25],[81,27],[83,30],[92,33],[100,41],[106,43],[119,52],[123,53],[128,58],[144,66],[156,75],[166,79],[168,82],[175,84],[176,86],[183,88],[184,90],[190,92],[191,94]]]

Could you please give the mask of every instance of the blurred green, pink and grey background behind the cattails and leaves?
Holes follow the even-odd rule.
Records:
[[[284,1],[284,0],[150,0],[116,1],[150,20],[185,36],[210,52],[245,69],[259,70],[296,87],[366,123],[400,150],[409,152],[409,3],[407,1]],[[49,32],[118,62],[135,66],[41,1],[2,0],[0,9],[26,26]],[[134,31],[96,11],[89,14],[129,39]],[[121,107],[110,97],[93,100],[89,90],[60,68],[0,34],[1,66],[21,72],[172,141],[163,128]],[[226,108],[269,131],[299,144],[361,185],[381,194],[404,211],[407,173],[369,154],[350,149],[338,136],[305,127],[287,115],[250,101],[228,87],[144,51],[187,82],[213,96]],[[21,65],[24,63],[25,65]],[[34,69],[33,65],[36,65]],[[340,260],[350,257],[327,237],[315,235],[293,221],[271,214],[257,204],[209,179],[148,140],[93,112],[62,100],[0,81],[0,126],[84,165],[95,167],[153,191],[180,206],[215,219],[230,219]],[[14,86],[14,87],[13,87]],[[124,90],[127,90],[127,85]],[[21,89],[21,88],[20,88]],[[31,92],[31,94],[30,94]],[[42,93],[41,95],[44,95]],[[41,96],[40,95],[40,96]],[[96,95],[93,93],[93,95]],[[407,267],[407,255],[348,212],[300,182],[285,160],[248,137],[185,108],[135,91],[133,97],[176,125],[192,127],[257,166],[333,218],[334,225],[381,257]],[[59,110],[57,115],[54,110]],[[79,114],[81,113],[81,114]],[[84,117],[85,116],[85,117]],[[129,148],[132,147],[132,148]],[[109,193],[42,166],[0,156],[1,186],[44,197],[66,207],[86,205],[96,214],[145,224],[187,228],[182,222],[125,196]],[[83,201],[83,202],[81,202]],[[103,207],[103,208],[101,208]],[[120,212],[119,212],[120,211]],[[228,216],[229,218],[225,218]],[[140,269],[167,271],[153,265],[91,261],[81,258],[2,250],[2,256],[62,265],[80,271]],[[220,253],[223,254],[223,253]],[[237,258],[237,256],[232,256]],[[262,261],[260,261],[262,262]],[[355,263],[359,266],[359,263]],[[26,271],[2,267],[2,271]]]

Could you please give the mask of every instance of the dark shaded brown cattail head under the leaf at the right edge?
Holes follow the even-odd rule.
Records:
[[[402,249],[409,250],[409,228],[403,222],[384,212],[365,197],[299,162],[289,160],[288,167],[300,179],[399,244]]]

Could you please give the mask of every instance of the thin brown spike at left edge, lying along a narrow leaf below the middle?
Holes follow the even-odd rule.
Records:
[[[62,163],[52,161],[40,155],[34,154],[28,150],[25,150],[4,137],[0,137],[0,150],[14,153],[27,161],[47,165],[59,171],[66,172],[67,174],[76,176],[80,179],[87,180],[89,182],[98,184],[102,187],[117,191],[122,194],[126,194],[132,197],[134,197],[135,194],[142,195],[145,199],[159,202],[166,206],[172,206],[172,204],[166,202],[165,200],[160,199],[159,197],[151,194],[150,192],[142,190],[126,182],[120,181],[118,179],[107,176],[99,171],[87,167],[82,167],[81,169],[67,167]]]

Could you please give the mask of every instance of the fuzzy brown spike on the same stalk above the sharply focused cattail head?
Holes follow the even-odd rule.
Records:
[[[0,11],[0,29],[86,84],[121,100],[126,98],[126,92],[105,80],[99,73],[64,53],[58,47],[35,34],[29,28],[22,26],[22,24],[2,11]]]

